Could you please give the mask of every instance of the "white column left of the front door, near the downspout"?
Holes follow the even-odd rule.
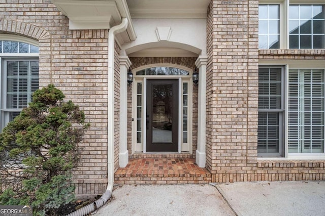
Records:
[[[118,161],[120,167],[128,163],[127,151],[127,70],[131,61],[127,56],[120,56],[120,148]]]

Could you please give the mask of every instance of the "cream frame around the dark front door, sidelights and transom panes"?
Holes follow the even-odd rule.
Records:
[[[151,67],[175,67],[179,69],[183,69],[186,71],[189,71],[189,75],[137,75],[137,71],[143,70],[145,68],[151,68]],[[175,65],[175,64],[152,64],[152,65],[145,65],[138,68],[135,68],[132,70],[134,74],[134,80],[132,83],[132,115],[130,116],[131,119],[133,119],[132,122],[132,154],[134,153],[147,153],[146,151],[146,121],[142,120],[141,122],[141,143],[137,142],[137,85],[138,83],[142,83],[142,119],[144,119],[144,116],[146,115],[146,89],[147,89],[147,79],[178,79],[178,103],[181,104],[181,106],[178,107],[178,152],[172,152],[172,153],[193,153],[192,149],[192,112],[193,112],[193,82],[192,82],[192,73],[193,70],[191,68],[187,68],[181,65]],[[187,83],[187,89],[188,89],[188,108],[187,108],[187,143],[183,143],[183,84]]]

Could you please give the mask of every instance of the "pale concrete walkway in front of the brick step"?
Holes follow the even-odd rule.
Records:
[[[325,215],[325,182],[124,185],[112,196],[92,215]]]

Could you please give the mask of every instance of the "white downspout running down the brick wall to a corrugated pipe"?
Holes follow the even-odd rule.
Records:
[[[68,214],[68,216],[84,216],[102,207],[111,198],[114,185],[114,67],[115,67],[115,34],[127,28],[127,18],[123,17],[119,25],[108,31],[108,105],[107,105],[107,189],[106,192],[93,203]]]

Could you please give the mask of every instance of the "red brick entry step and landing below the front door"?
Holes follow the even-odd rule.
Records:
[[[115,184],[206,184],[211,174],[193,158],[133,158],[114,175]]]

